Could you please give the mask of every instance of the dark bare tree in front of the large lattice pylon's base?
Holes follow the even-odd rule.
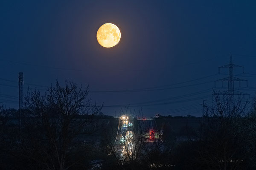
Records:
[[[248,101],[238,97],[230,108],[229,96],[214,92],[213,97],[213,105],[207,107],[197,136],[199,160],[208,169],[239,169],[243,161],[238,156],[242,145],[239,122],[245,116]]]

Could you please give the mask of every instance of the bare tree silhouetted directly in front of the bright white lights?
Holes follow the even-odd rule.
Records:
[[[103,150],[116,160],[116,169],[135,170],[140,165],[148,127],[145,122],[137,120],[137,116],[142,116],[141,110],[138,113],[128,112],[128,107],[121,110],[118,122],[104,137]]]

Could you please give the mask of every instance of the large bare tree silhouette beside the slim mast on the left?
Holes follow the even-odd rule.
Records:
[[[67,170],[85,161],[89,147],[84,136],[90,133],[94,118],[102,108],[91,104],[91,99],[87,99],[88,92],[88,86],[83,90],[74,82],[66,82],[62,87],[58,81],[44,94],[28,90],[26,120],[37,139],[32,139],[33,147],[24,147],[24,153],[32,156],[30,159],[38,167]],[[25,125],[29,125],[28,122]],[[31,129],[28,131],[33,133]]]

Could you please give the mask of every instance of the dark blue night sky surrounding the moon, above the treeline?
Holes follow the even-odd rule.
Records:
[[[1,1],[0,102],[17,108],[22,71],[25,88],[56,79],[89,85],[106,114],[131,104],[147,116],[200,116],[214,80],[227,76],[215,74],[230,53],[245,67],[237,77],[249,80],[240,91],[255,93],[255,9],[254,0]],[[96,40],[104,23],[121,31],[113,48]]]

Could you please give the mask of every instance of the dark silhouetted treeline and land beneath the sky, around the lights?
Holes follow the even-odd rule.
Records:
[[[0,169],[255,170],[256,100],[248,110],[243,99],[214,97],[203,117],[155,119],[157,139],[146,139],[146,121],[134,120],[126,147],[119,139],[129,131],[118,133],[119,119],[102,114],[88,88],[57,82],[44,94],[28,91],[22,110],[0,108]],[[182,140],[168,121],[177,118],[198,122],[184,126]]]

